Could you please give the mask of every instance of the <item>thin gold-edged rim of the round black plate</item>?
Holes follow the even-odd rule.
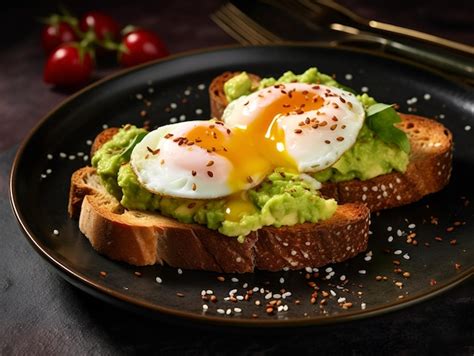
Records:
[[[23,153],[28,146],[30,140],[34,137],[36,132],[50,119],[52,115],[54,115],[60,108],[69,104],[69,102],[75,100],[77,97],[81,96],[84,92],[88,92],[103,83],[107,83],[110,80],[115,78],[122,77],[124,75],[133,73],[135,71],[140,71],[143,68],[151,67],[156,64],[162,62],[173,61],[178,58],[182,57],[190,57],[193,55],[200,55],[212,52],[218,52],[222,50],[246,50],[252,48],[274,48],[274,47],[283,47],[283,48],[323,48],[323,49],[334,49],[334,50],[342,50],[342,51],[349,51],[355,53],[363,53],[369,54],[371,56],[385,58],[389,60],[393,60],[399,63],[403,63],[412,67],[416,67],[418,69],[422,69],[423,71],[428,71],[431,74],[434,74],[438,77],[441,77],[451,84],[458,86],[460,88],[471,89],[465,83],[459,83],[455,81],[453,78],[449,77],[448,75],[441,73],[437,70],[429,68],[423,64],[415,63],[406,59],[397,58],[392,55],[388,55],[385,53],[377,53],[371,50],[365,49],[354,49],[351,47],[346,46],[334,46],[328,44],[318,44],[318,43],[301,43],[301,42],[281,42],[275,43],[270,45],[257,45],[257,46],[239,46],[239,45],[227,45],[227,46],[216,46],[216,47],[209,47],[205,49],[197,49],[197,50],[190,50],[181,52],[163,59],[158,59],[155,61],[147,62],[141,64],[136,67],[128,68],[119,70],[116,73],[108,75],[84,88],[77,91],[73,95],[62,100],[60,103],[55,105],[51,110],[49,110],[34,127],[29,131],[26,137],[22,140],[13,160],[12,168],[10,171],[10,179],[9,179],[9,200],[10,205],[15,215],[15,218],[21,228],[21,231],[28,242],[34,247],[35,251],[39,253],[39,255],[45,259],[50,265],[52,265],[56,272],[59,272],[59,275],[64,278],[66,281],[86,291],[87,293],[97,297],[99,299],[112,302],[116,305],[119,305],[123,308],[130,308],[131,306],[135,308],[141,309],[141,311],[150,311],[153,313],[158,313],[162,316],[168,317],[178,317],[181,320],[188,320],[193,322],[204,322],[206,324],[212,325],[221,325],[221,326],[244,326],[244,327],[272,327],[272,328],[284,328],[288,326],[316,326],[316,325],[323,325],[323,324],[334,324],[343,321],[351,321],[351,320],[358,320],[358,319],[365,319],[370,318],[373,316],[378,316],[390,312],[394,312],[396,310],[400,310],[414,304],[423,302],[425,300],[431,299],[437,295],[445,293],[446,291],[450,290],[451,288],[457,286],[458,284],[462,283],[463,281],[469,279],[474,275],[474,266],[464,270],[463,272],[457,274],[455,277],[448,280],[443,284],[438,284],[437,287],[434,287],[433,290],[428,290],[418,294],[411,294],[409,297],[403,298],[400,301],[395,301],[392,303],[384,304],[375,308],[369,308],[365,310],[357,310],[353,312],[345,312],[343,314],[337,314],[333,316],[323,316],[323,315],[315,315],[310,317],[299,317],[299,318],[291,318],[291,319],[234,319],[234,318],[226,318],[214,315],[200,315],[194,312],[187,312],[181,311],[179,309],[175,309],[172,307],[167,306],[160,306],[156,304],[152,304],[146,301],[137,300],[134,297],[127,296],[123,293],[115,291],[111,288],[107,288],[100,283],[95,283],[94,281],[90,280],[89,277],[86,275],[74,271],[73,268],[68,267],[63,262],[58,260],[57,258],[53,257],[51,254],[48,253],[47,248],[42,246],[41,240],[31,231],[28,227],[26,219],[21,214],[19,201],[16,194],[16,177],[17,177],[17,170],[18,165],[23,157]],[[71,278],[71,279],[70,279]]]

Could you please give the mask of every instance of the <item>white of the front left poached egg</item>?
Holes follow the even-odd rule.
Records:
[[[147,134],[135,146],[130,160],[141,185],[153,193],[180,198],[212,199],[233,193],[228,184],[233,167],[227,158],[197,145],[178,145],[174,141],[196,126],[209,124],[210,121],[180,122]],[[225,132],[219,126],[216,125]],[[165,138],[167,134],[173,136]],[[159,153],[150,153],[157,149]],[[213,161],[211,167],[207,166],[209,161]]]

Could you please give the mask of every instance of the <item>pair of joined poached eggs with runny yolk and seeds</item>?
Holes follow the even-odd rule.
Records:
[[[230,196],[242,204],[241,192],[275,168],[304,173],[331,166],[355,143],[364,115],[355,96],[341,89],[275,85],[230,103],[223,121],[159,127],[135,146],[130,163],[151,192]]]

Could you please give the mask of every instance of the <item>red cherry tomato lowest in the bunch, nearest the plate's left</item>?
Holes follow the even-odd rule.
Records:
[[[93,67],[94,61],[90,51],[81,50],[76,43],[66,43],[49,56],[43,78],[46,83],[75,87],[87,82]]]

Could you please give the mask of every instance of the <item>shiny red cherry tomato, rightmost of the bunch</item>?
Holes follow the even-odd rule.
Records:
[[[121,46],[123,50],[119,55],[119,61],[125,67],[162,58],[169,54],[157,35],[141,29],[127,33],[122,39]]]

